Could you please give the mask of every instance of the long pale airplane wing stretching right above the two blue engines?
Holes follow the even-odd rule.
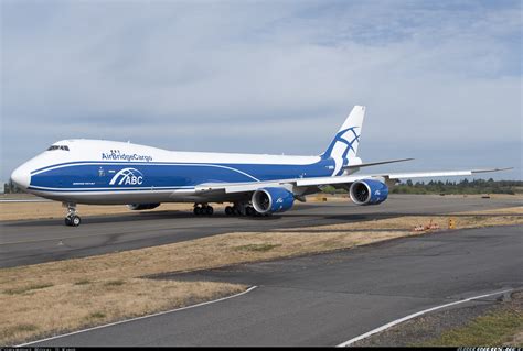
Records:
[[[427,177],[451,177],[451,176],[470,176],[478,173],[499,172],[512,169],[509,168],[488,168],[488,169],[468,169],[468,171],[435,171],[435,172],[415,172],[415,173],[391,173],[391,174],[357,174],[349,176],[334,177],[312,177],[312,178],[293,178],[267,182],[247,182],[247,183],[207,183],[195,187],[196,193],[204,191],[223,191],[225,194],[249,193],[265,187],[285,187],[292,191],[297,188],[305,190],[310,187],[322,185],[350,185],[361,179],[381,179],[387,185],[394,185],[399,179],[407,178],[427,178]],[[303,191],[299,191],[303,193]],[[301,195],[301,194],[298,194]]]

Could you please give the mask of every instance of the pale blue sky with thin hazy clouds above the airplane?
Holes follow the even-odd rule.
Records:
[[[522,179],[521,1],[0,3],[1,180],[72,138],[314,155],[353,105],[416,157],[373,172]]]

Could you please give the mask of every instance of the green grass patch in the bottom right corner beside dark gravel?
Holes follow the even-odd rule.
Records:
[[[478,317],[465,327],[446,331],[439,338],[415,345],[499,347],[521,330],[523,330],[523,314],[501,310]]]

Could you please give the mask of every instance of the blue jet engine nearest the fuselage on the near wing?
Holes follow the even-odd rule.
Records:
[[[292,207],[295,195],[285,188],[262,188],[254,191],[252,202],[259,213],[285,212]]]

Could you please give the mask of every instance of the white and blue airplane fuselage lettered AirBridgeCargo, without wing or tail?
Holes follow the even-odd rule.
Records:
[[[356,160],[356,162],[361,162]],[[26,191],[75,204],[198,201],[196,185],[331,176],[333,158],[171,152],[132,143],[65,140],[14,173]],[[232,201],[237,195],[221,195]],[[205,200],[210,199],[209,196]]]

